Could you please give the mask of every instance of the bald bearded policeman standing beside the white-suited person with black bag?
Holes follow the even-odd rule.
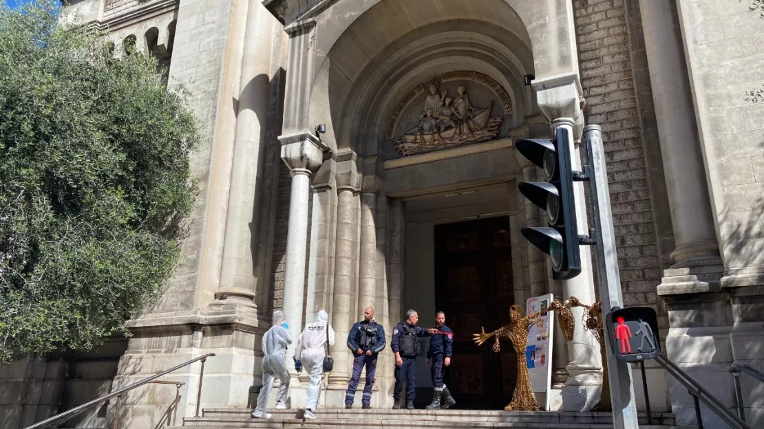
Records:
[[[364,320],[354,324],[348,334],[348,348],[355,356],[353,376],[348,382],[345,393],[345,408],[353,406],[355,389],[361,379],[361,369],[366,366],[366,384],[364,385],[363,408],[371,408],[371,388],[374,387],[374,373],[377,371],[377,354],[384,349],[384,328],[374,321],[374,308],[364,310]]]

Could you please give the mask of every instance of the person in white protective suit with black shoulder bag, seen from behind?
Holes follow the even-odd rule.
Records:
[[[321,310],[316,321],[305,327],[297,340],[295,359],[302,361],[309,374],[308,389],[305,392],[305,408],[315,410],[321,393],[321,376],[324,370],[326,350],[326,327],[329,327],[329,345],[334,345],[334,329],[329,325],[329,314]]]

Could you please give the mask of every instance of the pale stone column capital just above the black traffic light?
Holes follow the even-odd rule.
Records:
[[[581,138],[584,127],[581,82],[578,73],[564,73],[533,81],[536,102],[544,116],[558,127],[570,124],[574,137]]]

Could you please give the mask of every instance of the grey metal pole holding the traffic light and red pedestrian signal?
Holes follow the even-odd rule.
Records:
[[[599,125],[584,127],[586,161],[589,166],[589,196],[591,198],[594,234],[597,247],[597,279],[604,314],[613,308],[623,307],[616,237],[613,214],[610,211],[610,193],[607,186],[607,168],[602,144],[602,129]],[[607,321],[605,321],[607,323]],[[607,329],[604,330],[607,336]],[[638,429],[639,422],[634,402],[634,383],[628,363],[616,360],[610,340],[605,340],[607,349],[608,376],[610,376],[610,402],[613,405],[613,427],[615,429]]]

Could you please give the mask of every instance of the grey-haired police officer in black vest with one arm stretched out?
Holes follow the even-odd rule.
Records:
[[[416,310],[406,311],[406,320],[395,325],[390,348],[395,353],[395,388],[393,389],[393,409],[400,408],[400,394],[403,392],[403,380],[406,380],[406,408],[414,409],[416,393],[416,355],[419,354],[418,337],[426,337],[435,329],[416,326],[419,314]]]

